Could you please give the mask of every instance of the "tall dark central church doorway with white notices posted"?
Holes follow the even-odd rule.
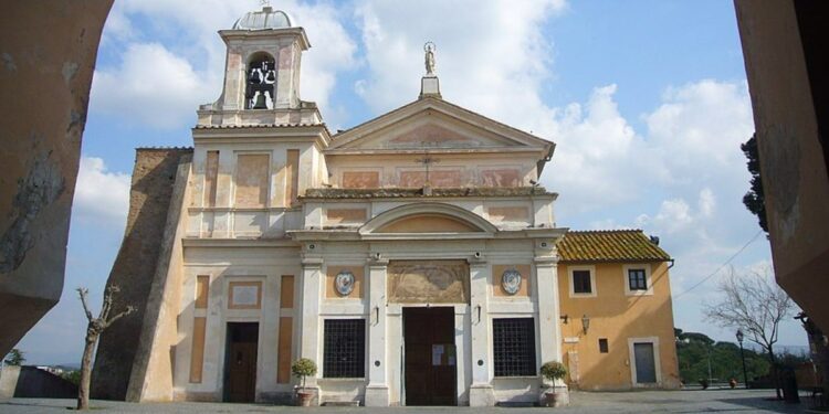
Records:
[[[458,405],[453,307],[403,308],[406,405]]]

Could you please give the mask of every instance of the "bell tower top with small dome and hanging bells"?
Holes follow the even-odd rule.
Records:
[[[199,108],[199,125],[277,124],[315,106],[300,99],[302,52],[311,44],[291,17],[265,6],[219,31],[227,45],[222,94]]]

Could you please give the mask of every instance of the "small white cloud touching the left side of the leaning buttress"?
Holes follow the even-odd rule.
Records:
[[[104,160],[82,157],[73,217],[123,226],[129,209],[129,174],[107,171]]]

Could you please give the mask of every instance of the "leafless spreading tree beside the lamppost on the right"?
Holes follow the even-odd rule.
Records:
[[[725,296],[720,302],[705,305],[705,318],[723,328],[742,329],[746,339],[757,343],[772,363],[777,397],[780,399],[777,343],[780,321],[795,310],[791,298],[773,280],[769,269],[737,274],[731,269],[718,285]]]

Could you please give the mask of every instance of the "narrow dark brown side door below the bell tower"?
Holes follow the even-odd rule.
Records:
[[[224,401],[252,403],[256,397],[259,323],[228,323],[224,353]]]

